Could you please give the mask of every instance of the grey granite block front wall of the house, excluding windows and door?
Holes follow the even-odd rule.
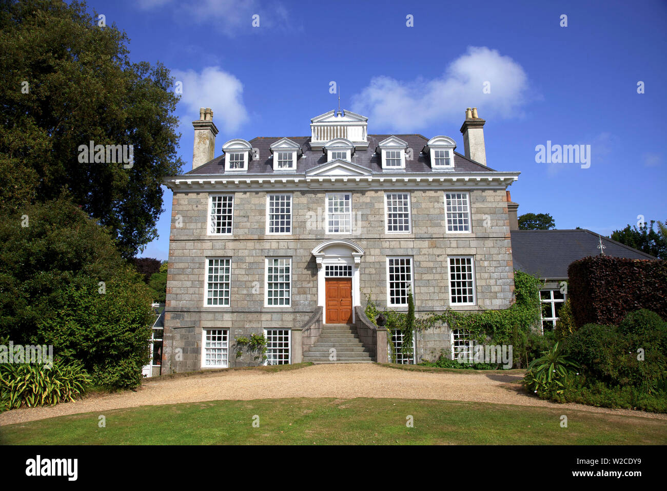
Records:
[[[300,329],[318,305],[318,265],[311,251],[331,239],[352,240],[364,255],[358,263],[361,305],[372,294],[380,307],[387,305],[387,258],[412,258],[414,301],[417,315],[457,310],[504,309],[512,302],[514,275],[506,190],[471,184],[456,191],[470,193],[472,230],[446,233],[444,193],[446,183],[403,186],[410,192],[412,231],[385,230],[386,188],[342,188],[352,194],[351,234],[325,232],[325,196],[330,189],[289,188],[220,190],[175,189],[169,240],[167,304],[162,373],[201,368],[202,330],[229,329],[229,366],[252,365],[248,353],[236,357],[234,339],[260,334],[263,329]],[[267,194],[292,195],[292,233],[266,233]],[[233,194],[233,233],[208,234],[209,194]],[[474,257],[476,305],[450,305],[448,257]],[[231,258],[229,307],[205,306],[206,261]],[[265,306],[265,258],[291,258],[291,306]],[[321,293],[320,293],[321,295]],[[400,307],[394,307],[401,310]],[[299,337],[300,339],[300,337]],[[301,349],[292,343],[292,350]],[[421,359],[450,352],[450,332],[440,327],[416,337]],[[293,359],[301,359],[301,353]]]

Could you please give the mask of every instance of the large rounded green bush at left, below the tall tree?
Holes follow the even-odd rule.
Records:
[[[93,382],[132,387],[148,359],[150,304],[107,230],[64,194],[0,220],[0,339],[51,344]]]

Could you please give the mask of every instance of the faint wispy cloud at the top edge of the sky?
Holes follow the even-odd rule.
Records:
[[[287,29],[290,15],[279,3],[259,0],[139,0],[143,10],[169,9],[178,19],[189,19],[197,24],[210,24],[213,29],[233,37],[240,33],[258,32],[259,29]],[[253,27],[253,15],[259,15],[259,27]]]

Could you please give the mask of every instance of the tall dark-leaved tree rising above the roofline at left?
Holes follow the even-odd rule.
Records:
[[[161,180],[178,174],[177,96],[161,64],[131,63],[127,35],[77,0],[4,0],[0,9],[0,208],[71,192],[123,257],[157,236]],[[81,162],[81,146],[133,146],[126,164]],[[106,161],[107,154],[103,152]],[[111,155],[108,156],[111,160]]]

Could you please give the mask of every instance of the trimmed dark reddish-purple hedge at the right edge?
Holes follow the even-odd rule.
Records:
[[[628,312],[648,309],[667,319],[667,261],[586,257],[568,267],[577,327],[618,325]]]

